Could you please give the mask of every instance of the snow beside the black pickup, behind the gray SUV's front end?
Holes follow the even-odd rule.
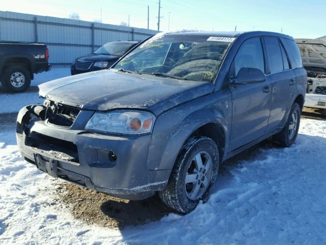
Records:
[[[36,86],[54,80],[70,76],[70,68],[52,68],[47,72],[41,72],[34,75],[29,90],[23,93],[4,93],[0,94],[0,113],[18,112],[23,106],[43,103],[43,99],[39,98],[38,88]]]

